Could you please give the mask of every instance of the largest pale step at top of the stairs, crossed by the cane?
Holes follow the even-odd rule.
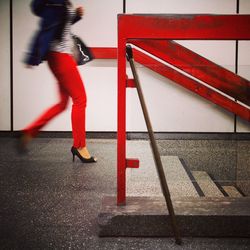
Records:
[[[199,197],[179,157],[162,156],[161,160],[171,197]],[[151,164],[141,165],[139,169],[132,170],[134,174],[128,175],[128,196],[162,196],[154,162]]]

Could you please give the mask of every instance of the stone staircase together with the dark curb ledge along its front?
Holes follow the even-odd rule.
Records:
[[[173,236],[148,141],[128,141],[127,154],[141,168],[127,169],[127,203],[103,199],[100,236]],[[190,171],[178,156],[162,156],[164,172],[182,236],[249,237],[250,198],[221,186],[205,171]]]

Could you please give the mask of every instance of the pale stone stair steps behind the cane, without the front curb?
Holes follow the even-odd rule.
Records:
[[[128,155],[136,154],[143,166],[139,169],[127,169],[127,195],[162,197],[148,142],[129,141],[127,151]],[[221,186],[207,172],[191,171],[178,156],[161,156],[161,160],[172,198],[243,197],[235,186]]]

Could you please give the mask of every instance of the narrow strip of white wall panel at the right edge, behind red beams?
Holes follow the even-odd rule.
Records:
[[[250,14],[249,0],[240,0],[240,14]],[[238,74],[250,79],[250,41],[239,41]],[[250,132],[250,123],[237,118],[237,131]]]

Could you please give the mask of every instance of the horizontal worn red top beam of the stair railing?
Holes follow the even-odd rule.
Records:
[[[250,15],[166,14],[118,16],[120,38],[250,39]]]

